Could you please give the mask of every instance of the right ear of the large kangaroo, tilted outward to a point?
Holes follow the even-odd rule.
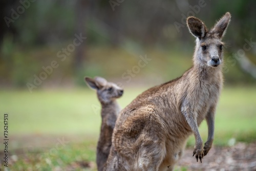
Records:
[[[227,26],[230,22],[231,15],[227,12],[221,19],[215,24],[214,28],[211,29],[211,32],[216,34],[220,39],[225,35]]]

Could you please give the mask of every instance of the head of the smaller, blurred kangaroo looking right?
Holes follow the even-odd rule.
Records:
[[[123,95],[123,89],[117,84],[108,82],[102,77],[84,77],[88,86],[97,91],[98,99],[103,104],[108,104]]]

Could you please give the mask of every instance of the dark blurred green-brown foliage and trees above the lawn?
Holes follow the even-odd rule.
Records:
[[[28,1],[28,0],[27,0]],[[119,79],[133,68],[140,55],[152,62],[137,79],[159,79],[158,83],[180,76],[191,65],[194,37],[182,24],[183,15],[193,12],[199,1],[124,1],[114,10],[104,1],[35,1],[14,22],[0,26],[0,86],[26,87],[39,75],[43,66],[56,60],[57,52],[72,44],[74,34],[87,39],[71,52],[68,60],[38,86],[83,85],[84,75],[101,75]],[[243,49],[245,39],[256,41],[255,1],[205,1],[205,7],[194,11],[208,27],[229,11],[232,21],[224,38],[228,59]],[[12,10],[22,6],[19,1],[4,1],[2,16],[12,16]],[[193,13],[192,13],[193,14]],[[3,20],[2,22],[5,22]],[[256,45],[246,51],[246,57],[256,63]],[[80,60],[82,59],[82,60]],[[77,63],[80,65],[77,65]],[[230,84],[255,83],[243,71],[239,62],[226,61],[225,80]],[[154,78],[153,78],[154,77]]]

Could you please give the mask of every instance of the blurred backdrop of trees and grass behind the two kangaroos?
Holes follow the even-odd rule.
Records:
[[[100,104],[84,76],[118,83],[124,108],[144,90],[182,75],[193,65],[195,38],[185,25],[190,15],[208,28],[225,12],[232,15],[223,39],[225,86],[215,145],[256,141],[255,1],[0,4],[0,121],[8,113],[14,170],[95,169]],[[205,123],[200,132],[205,140]],[[188,146],[194,143],[191,137]]]

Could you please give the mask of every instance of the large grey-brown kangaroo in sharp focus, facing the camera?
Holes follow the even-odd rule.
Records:
[[[173,170],[191,134],[196,159],[207,155],[223,83],[221,38],[230,17],[227,12],[209,31],[200,19],[187,18],[196,37],[193,67],[180,78],[143,92],[120,112],[104,170]],[[203,145],[198,126],[204,119],[208,139]]]

